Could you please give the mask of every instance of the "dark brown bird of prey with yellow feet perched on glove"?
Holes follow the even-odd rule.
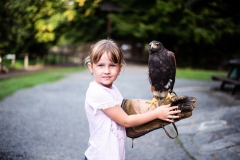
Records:
[[[171,98],[176,76],[176,59],[173,52],[155,40],[149,43],[148,52],[149,81],[153,92],[151,107],[158,99]]]

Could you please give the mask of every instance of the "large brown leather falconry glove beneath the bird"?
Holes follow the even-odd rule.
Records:
[[[176,121],[180,121],[182,119],[188,118],[192,115],[192,111],[196,107],[196,98],[189,97],[189,96],[174,95],[171,99],[168,99],[168,100],[165,100],[165,99],[158,100],[158,105],[154,104],[150,107],[150,103],[151,103],[151,100],[145,100],[145,99],[124,99],[121,107],[128,115],[132,115],[132,114],[141,114],[141,113],[148,112],[150,110],[154,110],[157,107],[160,107],[161,105],[171,104],[171,106],[178,106],[178,109],[181,110],[180,113],[176,114],[179,116],[179,118],[174,119],[174,121],[176,122]],[[164,126],[170,123],[171,122],[156,119],[139,126],[126,128],[126,134],[129,138],[138,138],[159,128],[163,128],[165,130]],[[172,124],[178,136],[177,127],[174,122]],[[170,134],[166,130],[165,132],[170,138],[177,137],[177,136],[176,137],[170,136]]]

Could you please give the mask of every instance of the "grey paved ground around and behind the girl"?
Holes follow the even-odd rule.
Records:
[[[16,92],[0,102],[0,160],[80,160],[89,138],[84,110],[89,71]],[[146,66],[128,65],[115,83],[124,98],[151,99]],[[197,97],[193,116],[127,139],[127,160],[240,159],[240,101],[214,91],[217,82],[177,79],[178,95]],[[168,126],[172,131],[172,127]],[[174,132],[171,132],[174,134]]]

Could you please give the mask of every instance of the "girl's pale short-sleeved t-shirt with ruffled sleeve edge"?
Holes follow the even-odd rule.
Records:
[[[121,106],[123,97],[115,85],[104,87],[91,82],[86,93],[85,110],[90,138],[85,156],[89,160],[125,160],[125,127],[118,125],[102,110]]]

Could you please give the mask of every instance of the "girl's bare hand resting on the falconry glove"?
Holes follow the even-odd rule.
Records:
[[[159,106],[155,109],[157,118],[168,122],[174,122],[175,118],[179,118],[179,116],[175,116],[175,114],[181,112],[180,110],[175,110],[177,108],[178,106],[170,107],[170,104]]]

